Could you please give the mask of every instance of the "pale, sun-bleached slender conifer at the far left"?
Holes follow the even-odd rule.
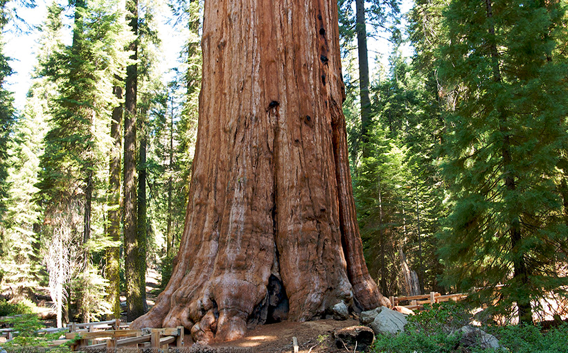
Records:
[[[48,19],[41,26],[41,50],[38,65],[23,115],[17,120],[10,139],[8,183],[11,188],[6,212],[6,251],[0,263],[4,283],[17,287],[17,293],[37,287],[41,273],[42,208],[35,202],[39,191],[39,156],[43,154],[43,138],[48,130],[48,100],[53,98],[56,85],[42,76],[42,67],[61,43],[62,8],[53,3]]]

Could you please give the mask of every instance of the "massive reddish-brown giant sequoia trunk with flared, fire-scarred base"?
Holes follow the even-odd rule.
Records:
[[[355,219],[338,36],[335,0],[206,1],[184,234],[168,286],[133,327],[227,341],[339,302],[386,302]]]

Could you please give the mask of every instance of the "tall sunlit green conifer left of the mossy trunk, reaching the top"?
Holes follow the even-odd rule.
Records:
[[[100,247],[91,236],[92,194],[100,189],[96,188],[99,170],[107,170],[105,132],[110,111],[117,104],[111,92],[116,86],[115,77],[123,76],[121,67],[127,62],[124,48],[130,35],[114,1],[94,0],[77,5],[73,44],[56,55],[50,65],[60,90],[53,102],[51,129],[45,138],[39,188],[51,231],[65,235],[57,239],[69,238],[70,246],[78,248],[77,256],[70,257],[76,263],[69,269],[77,271],[76,275],[63,278],[76,279],[78,311],[82,320],[89,320],[91,312],[103,303],[102,282],[90,262],[91,251]],[[106,190],[106,186],[102,189]],[[76,221],[79,215],[83,219],[80,229]]]

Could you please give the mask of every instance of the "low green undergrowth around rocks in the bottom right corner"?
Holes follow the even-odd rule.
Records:
[[[568,353],[568,323],[549,330],[539,325],[481,325],[495,336],[499,349],[473,345],[464,347],[459,329],[472,322],[472,314],[461,303],[436,304],[431,309],[409,316],[405,332],[383,334],[375,338],[373,353],[450,353],[450,352],[515,352]]]

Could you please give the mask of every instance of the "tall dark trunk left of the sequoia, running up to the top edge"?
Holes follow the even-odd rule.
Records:
[[[138,35],[138,2],[126,2],[126,19],[135,35]],[[137,39],[130,45],[134,52],[130,57],[138,57]],[[136,64],[126,68],[125,116],[124,116],[124,248],[127,320],[132,321],[144,314],[143,291],[139,273],[140,246],[136,221],[136,86],[138,69]]]

